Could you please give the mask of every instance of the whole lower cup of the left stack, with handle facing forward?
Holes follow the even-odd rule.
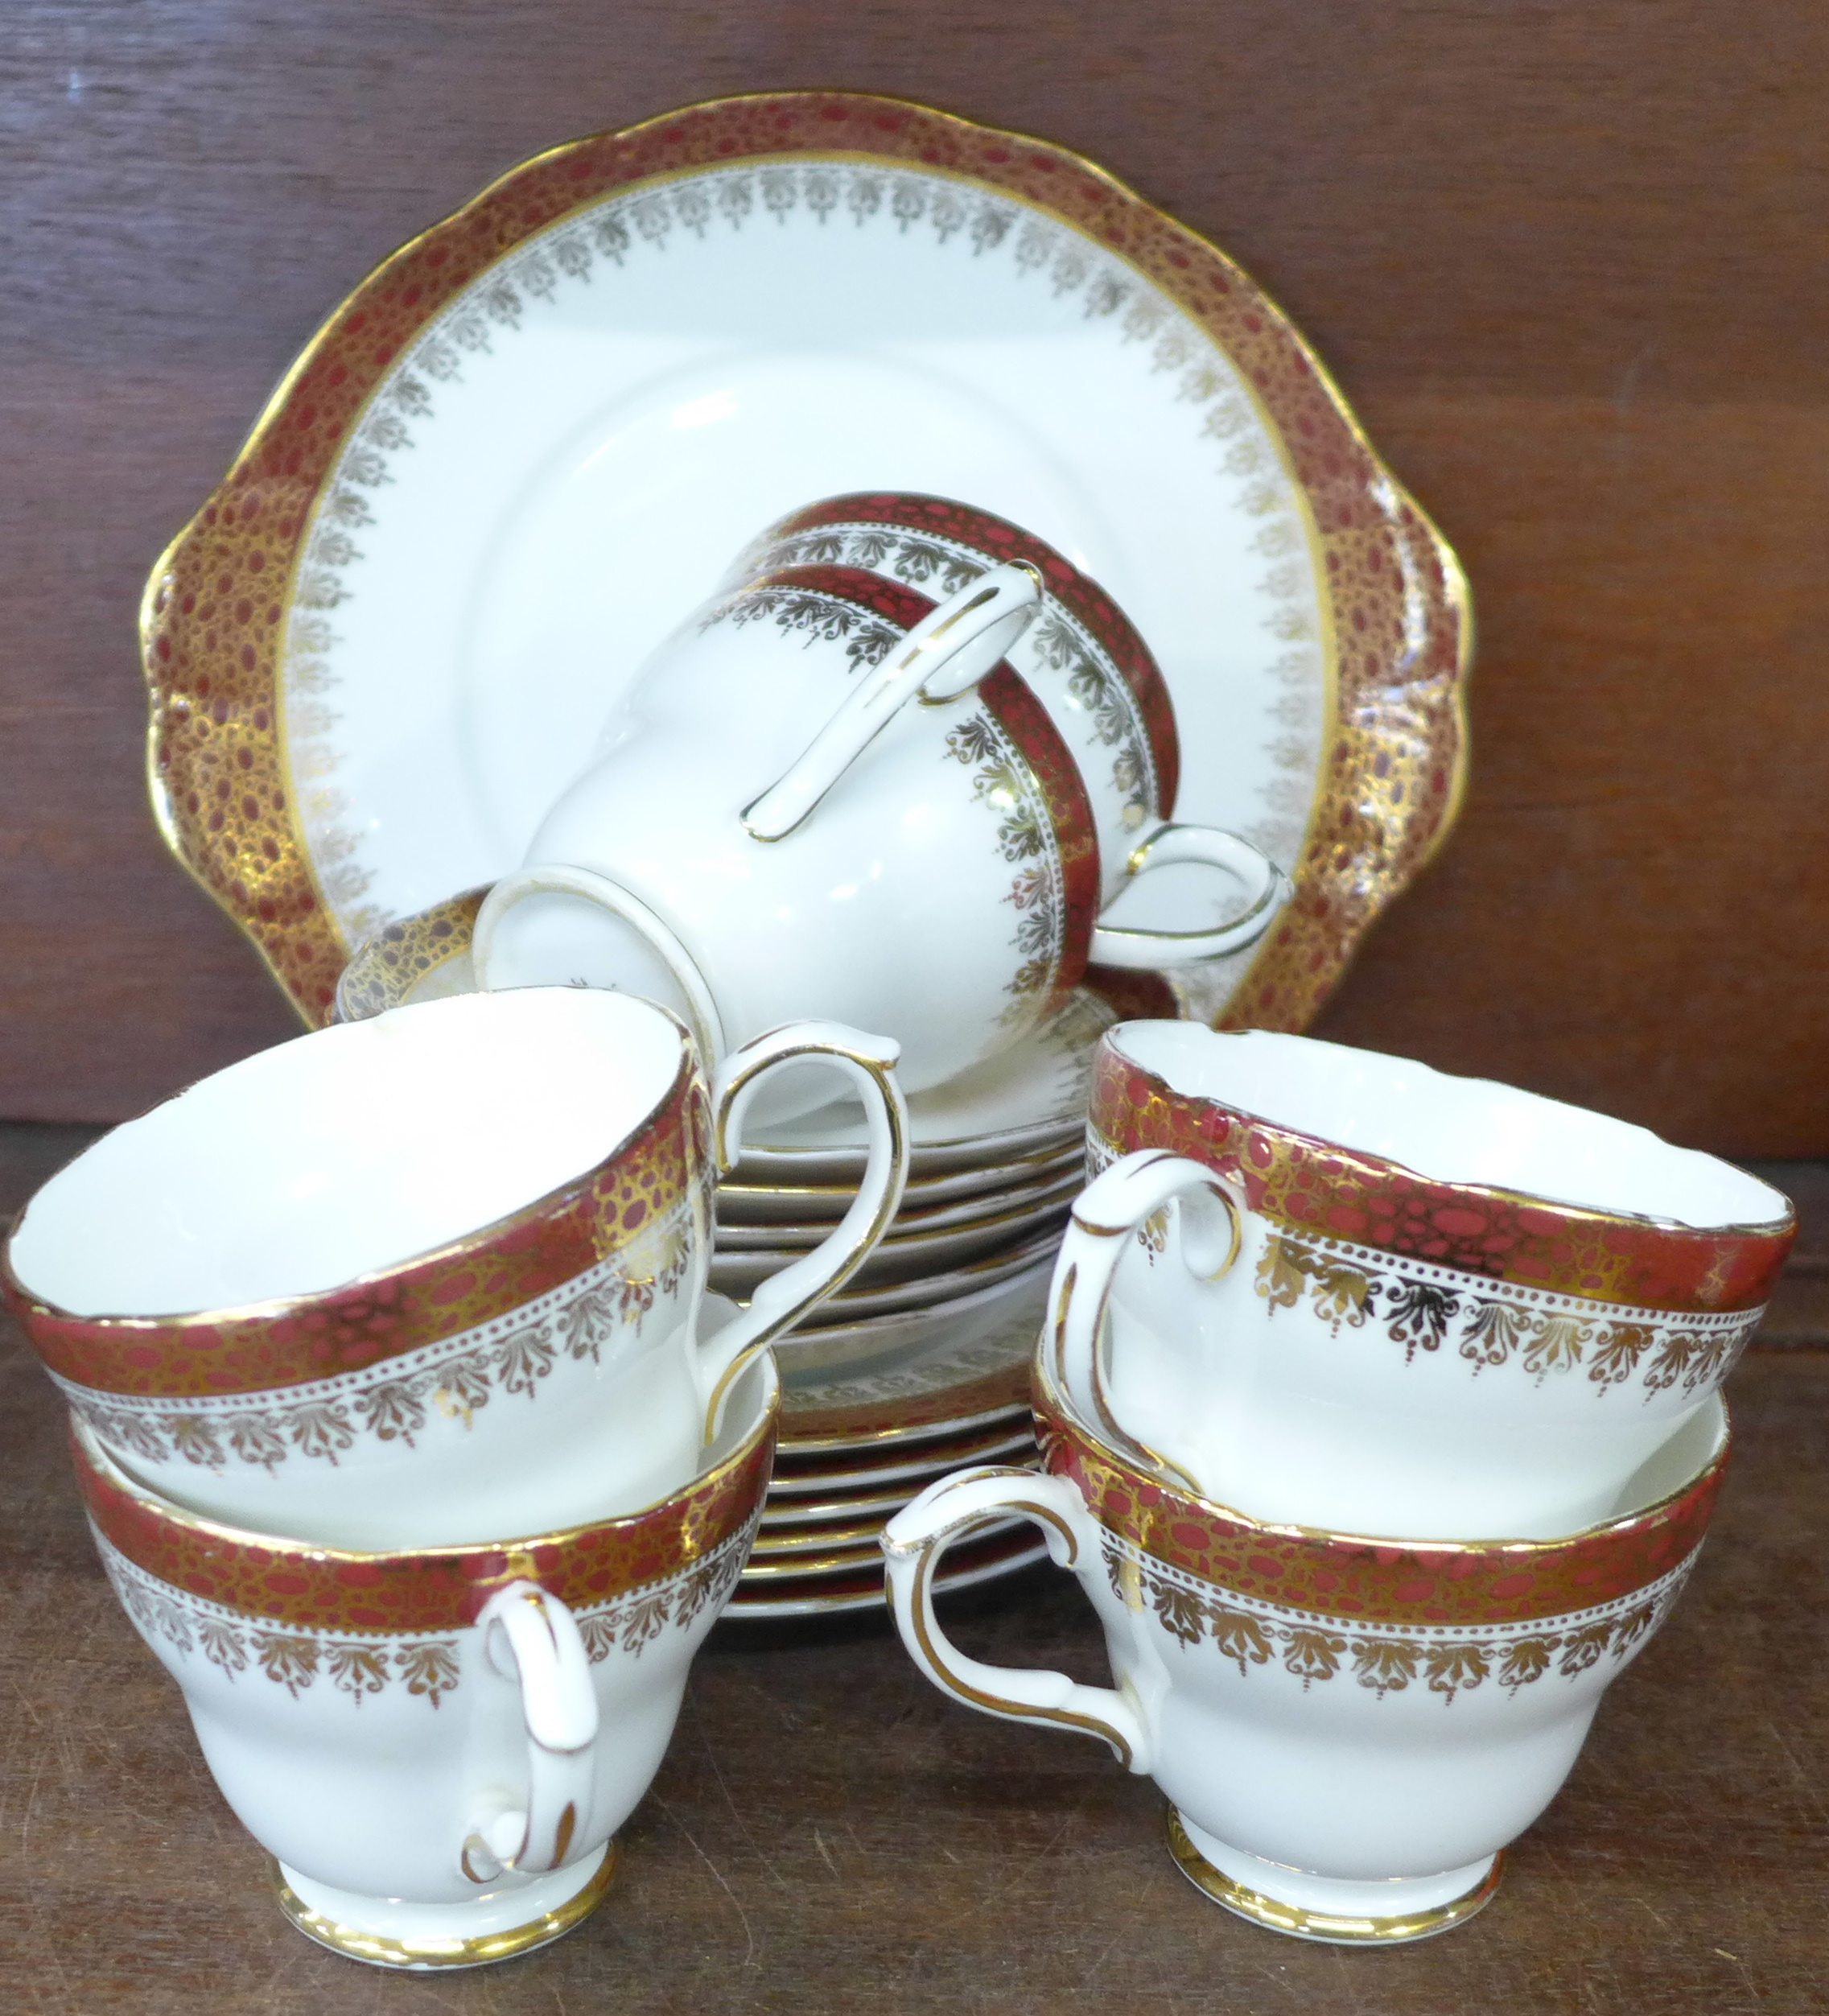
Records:
[[[430,1970],[528,1951],[593,1909],[748,1556],[778,1393],[764,1353],[698,1476],[655,1504],[379,1552],[186,1512],[75,1419],[109,1581],[294,1925]]]

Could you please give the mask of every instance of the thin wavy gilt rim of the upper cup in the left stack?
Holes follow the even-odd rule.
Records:
[[[482,990],[478,990],[478,994]],[[502,996],[571,994],[571,992],[573,992],[571,988],[500,990]],[[464,994],[456,998],[472,1000],[476,996]],[[655,1123],[657,1115],[661,1115],[667,1107],[674,1105],[676,1099],[684,1095],[686,1083],[698,1070],[698,1050],[692,1040],[692,1030],[686,1028],[680,1016],[676,1016],[669,1008],[663,1008],[659,1002],[649,1002],[645,998],[637,1000],[635,996],[623,996],[623,1000],[631,1000],[637,1006],[647,1008],[653,1014],[674,1024],[674,1032],[680,1038],[680,1060],[674,1068],[674,1077],[667,1081],[665,1091],[641,1113],[641,1117],[629,1127],[629,1131],[621,1137],[621,1141],[617,1141],[617,1145],[607,1155],[599,1155],[597,1161],[593,1161],[589,1167],[579,1169],[575,1175],[569,1175],[563,1183],[555,1183],[551,1189],[540,1191],[536,1198],[530,1198],[526,1204],[516,1206],[512,1212],[504,1212],[500,1218],[492,1218],[482,1226],[474,1226],[470,1232],[464,1232],[454,1240],[446,1240],[442,1246],[425,1246],[419,1252],[401,1254],[397,1260],[389,1260],[385,1266],[367,1268],[361,1274],[351,1274],[345,1280],[333,1282],[327,1288],[311,1288],[304,1294],[278,1294],[258,1302],[220,1302],[208,1308],[181,1308],[181,1310],[159,1310],[159,1312],[137,1312],[137,1314],[131,1310],[99,1310],[97,1314],[83,1314],[81,1310],[73,1310],[63,1306],[60,1302],[52,1302],[50,1296],[46,1294],[38,1294],[38,1290],[32,1288],[20,1276],[18,1268],[14,1268],[12,1264],[12,1250],[20,1232],[24,1232],[32,1204],[36,1204],[38,1198],[42,1198],[52,1183],[60,1181],[83,1159],[83,1155],[91,1151],[83,1149],[83,1155],[71,1157],[71,1161],[63,1165],[63,1169],[56,1169],[38,1185],[36,1191],[32,1191],[32,1195],[20,1210],[18,1218],[14,1218],[12,1226],[8,1228],[6,1238],[0,1240],[0,1300],[10,1300],[14,1302],[14,1306],[30,1310],[32,1314],[42,1316],[56,1325],[69,1325],[89,1331],[107,1331],[113,1335],[133,1335],[135,1331],[145,1331],[145,1333],[173,1333],[173,1331],[184,1333],[198,1329],[210,1331],[224,1325],[284,1322],[288,1318],[309,1314],[313,1308],[319,1308],[325,1302],[335,1302],[347,1296],[361,1294],[365,1288],[379,1288],[381,1284],[397,1278],[407,1270],[446,1266],[460,1262],[470,1254],[482,1252],[484,1248],[494,1246],[498,1240],[510,1238],[522,1226],[530,1226],[536,1224],[538,1220],[561,1214],[569,1204],[573,1204],[579,1195],[583,1195],[595,1183],[601,1171],[613,1167],[631,1147],[639,1143],[639,1139]],[[379,1022],[383,1016],[389,1014],[413,1014],[438,1006],[440,1002],[436,1000],[399,1002],[393,1008],[381,1010],[381,1014],[377,1016],[365,1016],[363,1022],[331,1022],[325,1024],[325,1028],[321,1030],[304,1030],[300,1036],[294,1036],[290,1040],[311,1042],[313,1036],[327,1034],[331,1028],[361,1028],[363,1024]],[[266,1052],[254,1052],[254,1054],[260,1056]],[[224,1066],[224,1070],[234,1070],[234,1068],[236,1068],[234,1064]],[[171,1093],[169,1097],[155,1101],[143,1113],[135,1113],[129,1119],[121,1121],[117,1127],[111,1127],[105,1135],[101,1135],[99,1141],[93,1141],[91,1147],[101,1147],[103,1141],[111,1141],[123,1127],[137,1127],[141,1121],[147,1121],[155,1113],[161,1113],[165,1107],[173,1105],[188,1091],[192,1091],[194,1085],[208,1085],[210,1079],[216,1077],[222,1077],[222,1073],[208,1073],[204,1079],[196,1079],[192,1081],[192,1085],[186,1085],[179,1091]],[[30,1322],[26,1322],[24,1329],[30,1339]],[[32,1339],[32,1343],[36,1347],[36,1339]],[[238,1391],[238,1389],[224,1389],[224,1391]]]

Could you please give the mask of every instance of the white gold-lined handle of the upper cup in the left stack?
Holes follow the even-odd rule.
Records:
[[[865,1036],[843,1022],[788,1022],[732,1050],[718,1068],[712,1087],[712,1137],[720,1175],[736,1167],[750,1101],[782,1064],[825,1062],[851,1081],[863,1099],[869,1159],[857,1195],[837,1228],[811,1254],[770,1274],[750,1296],[744,1314],[700,1339],[696,1367],[708,1447],[718,1437],[736,1375],[835,1288],[845,1286],[901,1206],[901,1191],[907,1187],[907,1101],[895,1083],[899,1054],[901,1044],[889,1036]]]

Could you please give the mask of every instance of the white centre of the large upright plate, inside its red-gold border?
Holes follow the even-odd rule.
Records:
[[[1210,337],[1012,198],[885,161],[619,192],[460,290],[371,411],[309,534],[335,623],[298,607],[284,647],[347,943],[518,863],[744,540],[863,488],[970,498],[1093,575],[1168,677],[1176,814],[1295,861],[1327,718],[1299,484]]]

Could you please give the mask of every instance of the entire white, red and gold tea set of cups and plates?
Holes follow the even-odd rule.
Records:
[[[1601,1115],[1208,1026],[1299,1026],[1452,821],[1464,585],[1222,254],[1010,145],[786,93],[528,163],[365,282],[347,333],[333,317],[149,585],[167,839],[329,1020],[79,1155],[20,1214],[0,1290],[69,1401],[127,1617],[280,1909],[349,1958],[468,1968],[579,1925],[712,1625],[885,1605],[956,1702],[1153,1778],[1204,1897],[1305,1939],[1430,1937],[1492,1897],[1702,1544],[1718,1387],[1791,1208]],[[472,228],[567,161],[563,204],[500,242]],[[841,190],[855,244],[827,230]],[[1081,200],[1097,214],[1045,208]],[[643,246],[669,252],[645,278]],[[395,284],[419,258],[423,286]],[[853,258],[926,286],[827,284]],[[563,300],[599,260],[623,294]],[[704,262],[750,294],[696,286]],[[345,345],[421,294],[397,351]],[[835,302],[879,296],[938,304],[952,377],[891,397],[863,337],[831,349]],[[996,341],[956,343],[980,308]],[[565,462],[538,429],[621,413],[605,373],[649,325],[726,312],[772,331],[738,381],[792,383],[823,425],[807,446],[776,401],[772,462],[740,431],[718,448],[742,405],[722,391],[621,427],[617,454],[651,458],[605,562],[645,651],[621,665],[625,639],[573,621],[587,595],[534,621],[528,554],[607,522],[538,490],[532,462]],[[1248,393],[1214,333],[1250,351]],[[676,347],[669,401],[704,363]],[[839,411],[863,450],[893,439],[889,470],[920,462],[897,456],[924,417],[974,480],[776,484],[704,597],[696,520],[728,530],[762,464],[841,466]],[[208,583],[274,558],[246,550],[276,534],[244,492],[278,484],[284,425],[290,683],[250,647],[272,683],[230,702]],[[452,444],[522,498],[512,526]],[[496,448],[532,458],[520,488]],[[623,468],[609,444],[585,460]],[[694,484],[698,512],[643,522]],[[1012,490],[1030,522],[1143,530],[1041,538]],[[1224,814],[1248,796],[1244,756],[1218,760],[1244,657],[1188,673],[1212,591],[1186,560],[1234,502],[1226,593],[1281,653],[1274,718],[1309,724],[1305,639],[1357,639],[1323,681],[1333,752],[1291,728],[1309,782],[1260,780],[1258,810],[1289,800],[1274,847]],[[399,649],[409,617],[468,607],[464,554],[480,631],[601,651],[595,742],[589,677],[559,706],[468,643]],[[1297,607],[1305,569],[1325,621]],[[486,704],[452,732],[434,700],[466,677]],[[1355,679],[1379,706],[1347,734]],[[569,774],[510,778],[571,738]],[[1178,818],[1196,774],[1204,816]],[[486,857],[466,835],[516,792]],[[1305,821],[1333,839],[1293,885],[1272,853],[1295,865]],[[363,911],[371,875],[387,901]],[[1236,956],[1278,935],[1283,978],[1234,1010]],[[1099,1615],[1111,1687],[948,1641],[936,1597],[1045,1558]]]

